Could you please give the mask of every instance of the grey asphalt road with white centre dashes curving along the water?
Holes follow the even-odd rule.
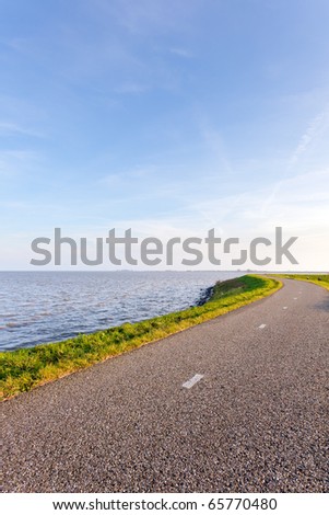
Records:
[[[329,295],[284,283],[2,403],[4,491],[328,492]]]

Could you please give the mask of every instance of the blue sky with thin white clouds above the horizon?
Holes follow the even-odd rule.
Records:
[[[269,268],[328,270],[328,22],[327,0],[0,0],[0,270],[36,270],[56,227],[91,258],[113,228],[282,227],[298,264]]]

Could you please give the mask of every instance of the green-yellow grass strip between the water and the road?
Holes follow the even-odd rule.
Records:
[[[1,399],[233,311],[273,294],[281,286],[273,278],[245,275],[218,283],[210,300],[203,306],[132,324],[125,323],[93,334],[81,334],[63,342],[2,352]]]

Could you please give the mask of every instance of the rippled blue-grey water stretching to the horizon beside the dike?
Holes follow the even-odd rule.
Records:
[[[0,272],[0,350],[33,346],[195,305],[230,272]]]

